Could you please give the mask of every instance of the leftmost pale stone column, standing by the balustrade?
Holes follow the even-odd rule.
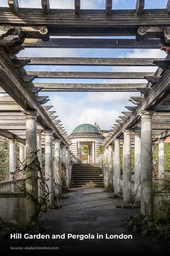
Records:
[[[15,140],[10,140],[10,148],[9,148],[9,158],[10,158],[10,181],[13,180],[13,172],[16,171],[16,160],[15,160]],[[15,176],[16,177],[16,176]]]

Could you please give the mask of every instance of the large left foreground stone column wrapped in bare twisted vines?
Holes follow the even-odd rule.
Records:
[[[26,169],[26,191],[28,193],[26,200],[26,219],[30,222],[33,215],[36,215],[38,211],[38,168],[35,162],[37,151],[37,127],[36,119],[37,112],[30,111],[25,112],[26,115],[26,164],[28,168]],[[34,163],[33,163],[34,162]],[[31,195],[31,196],[30,196]],[[37,202],[35,202],[36,200]],[[38,216],[35,217],[38,220]]]

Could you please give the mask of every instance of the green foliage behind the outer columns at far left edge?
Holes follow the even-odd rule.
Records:
[[[9,145],[8,139],[0,136],[0,182],[9,179]],[[19,167],[19,146],[15,143],[16,168]]]

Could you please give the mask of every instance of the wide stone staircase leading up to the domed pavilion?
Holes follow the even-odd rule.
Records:
[[[72,168],[73,187],[103,187],[102,166],[99,163],[78,163]]]

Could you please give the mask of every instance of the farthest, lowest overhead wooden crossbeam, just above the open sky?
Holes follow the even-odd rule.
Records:
[[[64,84],[64,83],[34,83],[43,87],[41,91],[138,91],[137,86],[146,84]]]

